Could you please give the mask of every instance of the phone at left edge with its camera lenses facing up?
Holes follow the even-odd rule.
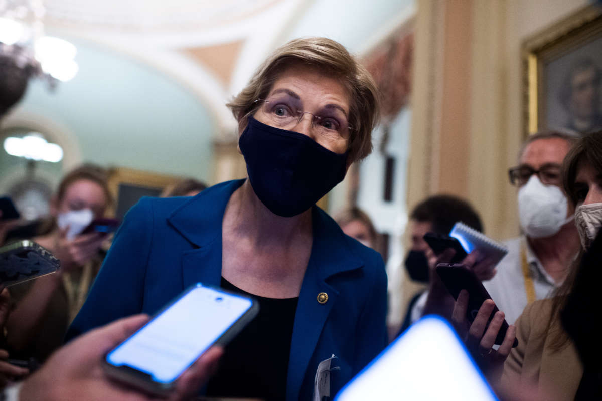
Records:
[[[54,273],[60,266],[48,249],[28,239],[0,248],[0,284],[5,287]]]

